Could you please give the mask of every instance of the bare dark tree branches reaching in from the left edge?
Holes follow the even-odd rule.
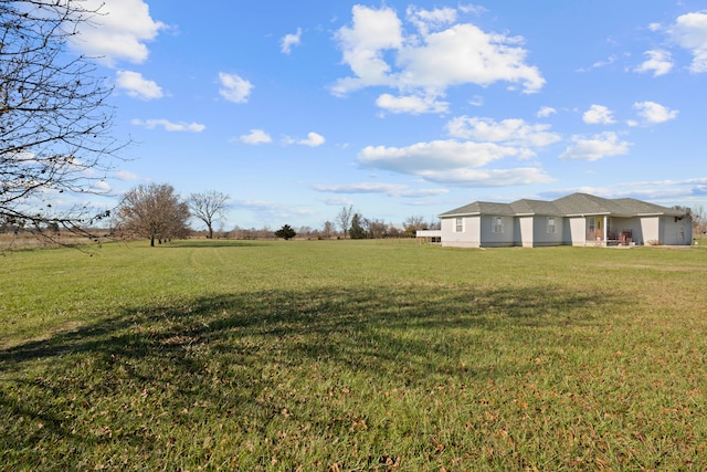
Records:
[[[102,193],[122,147],[112,90],[67,41],[98,10],[83,0],[0,0],[0,222],[82,231],[105,218],[88,203],[57,208],[60,193]],[[45,232],[51,237],[49,232]]]

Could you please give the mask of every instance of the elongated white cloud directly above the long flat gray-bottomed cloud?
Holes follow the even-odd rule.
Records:
[[[446,125],[450,135],[477,141],[504,143],[514,146],[545,147],[560,140],[550,133],[550,125],[530,125],[523,119],[504,119],[461,116]]]

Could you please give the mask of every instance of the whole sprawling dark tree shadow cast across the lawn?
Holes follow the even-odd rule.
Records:
[[[337,376],[415,388],[450,377],[515,375],[526,367],[462,360],[483,358],[494,343],[531,349],[542,336],[591,325],[602,305],[615,303],[548,287],[395,285],[134,307],[0,350],[0,368],[12,378],[0,392],[8,424],[0,444],[27,451],[38,441],[68,442],[78,457],[92,444],[127,442],[159,454],[169,434],[158,424],[188,429],[194,419],[182,412],[200,405],[211,409],[197,422],[230,417],[264,433],[284,408],[283,397],[273,396],[282,385],[306,386],[299,388],[316,396]],[[75,465],[76,457],[64,465]]]

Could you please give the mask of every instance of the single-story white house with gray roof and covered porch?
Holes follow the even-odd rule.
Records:
[[[441,244],[456,248],[689,245],[693,235],[692,217],[684,210],[588,193],[552,201],[476,201],[440,219]]]

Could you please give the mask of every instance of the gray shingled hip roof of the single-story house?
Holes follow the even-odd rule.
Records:
[[[682,217],[684,211],[661,207],[647,201],[634,198],[608,199],[589,193],[572,193],[553,201],[545,200],[516,200],[513,203],[493,203],[488,201],[475,201],[464,207],[446,211],[440,217],[462,217],[474,214],[542,214],[542,216],[572,216],[572,214],[606,214],[612,217],[636,217],[641,214],[665,214],[668,217]]]

